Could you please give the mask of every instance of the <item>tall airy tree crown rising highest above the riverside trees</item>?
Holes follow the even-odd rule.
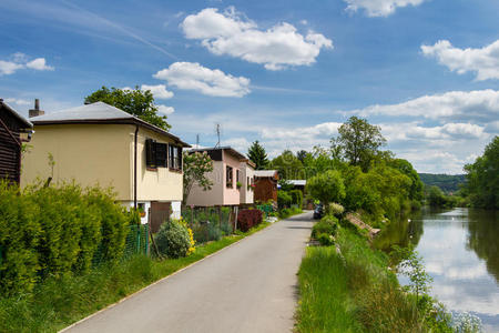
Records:
[[[332,151],[343,155],[352,165],[359,165],[364,171],[369,169],[370,161],[386,143],[379,127],[355,115],[339,127],[338,133],[337,138],[330,140]]]

